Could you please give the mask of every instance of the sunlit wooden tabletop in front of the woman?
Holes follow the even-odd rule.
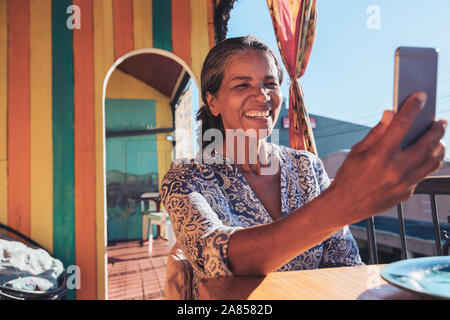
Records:
[[[260,277],[222,277],[199,283],[209,300],[407,300],[425,297],[380,277],[385,265],[272,272]]]

